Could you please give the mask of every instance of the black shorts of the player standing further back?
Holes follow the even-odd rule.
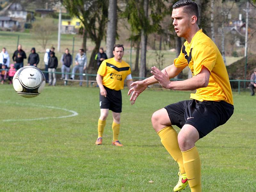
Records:
[[[100,95],[100,108],[109,109],[115,113],[122,112],[122,93],[121,90],[116,91],[105,87],[107,91],[107,97]]]

